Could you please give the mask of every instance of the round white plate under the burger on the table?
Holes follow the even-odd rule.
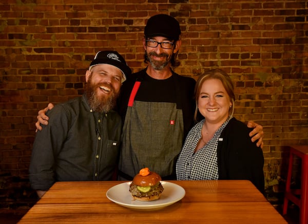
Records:
[[[127,208],[150,210],[169,206],[185,196],[185,190],[178,184],[161,181],[164,191],[160,199],[154,201],[138,201],[131,197],[131,193],[129,192],[130,183],[131,182],[126,182],[112,186],[112,188],[106,192],[107,198]]]

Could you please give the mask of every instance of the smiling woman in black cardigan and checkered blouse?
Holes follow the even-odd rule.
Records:
[[[233,117],[234,85],[219,69],[202,74],[195,87],[195,120],[186,137],[176,172],[179,180],[251,180],[264,193],[264,158],[248,128]]]

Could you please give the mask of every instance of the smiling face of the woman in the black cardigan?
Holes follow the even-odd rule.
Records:
[[[223,124],[229,116],[231,100],[219,79],[203,82],[198,96],[198,109],[206,122]]]

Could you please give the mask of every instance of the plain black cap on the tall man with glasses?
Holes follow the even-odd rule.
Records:
[[[150,17],[144,28],[146,38],[164,36],[170,40],[180,39],[181,29],[179,22],[172,16],[157,14]]]

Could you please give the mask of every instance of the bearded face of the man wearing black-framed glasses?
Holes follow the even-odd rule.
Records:
[[[163,36],[155,36],[148,40],[153,40],[157,42],[171,42],[175,43],[171,49],[162,48],[159,44],[157,47],[149,47],[146,46],[146,40],[143,40],[143,47],[145,49],[145,59],[150,63],[150,65],[155,70],[162,70],[164,69],[171,61],[172,55],[178,52],[181,41],[171,41]]]

